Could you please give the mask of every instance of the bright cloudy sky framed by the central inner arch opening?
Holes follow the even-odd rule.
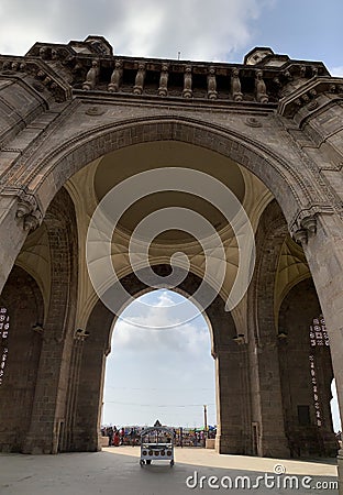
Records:
[[[199,311],[182,322],[179,307],[186,298],[172,290],[137,299],[141,304],[133,301],[114,322],[102,425],[152,426],[158,419],[170,427],[201,429],[206,405],[208,425],[214,427],[214,360],[204,317]]]

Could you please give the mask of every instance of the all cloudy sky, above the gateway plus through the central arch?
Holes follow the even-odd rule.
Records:
[[[291,58],[322,61],[343,76],[342,0],[1,0],[0,53],[23,55],[35,42],[68,43],[103,35],[115,54],[242,63],[254,46]],[[128,308],[132,322],[178,322],[180,296],[145,296],[145,311]],[[174,302],[173,302],[174,301]],[[172,305],[172,306],[170,306]],[[158,312],[161,315],[161,311]],[[202,405],[215,422],[214,363],[204,320],[165,331],[120,320],[108,359],[107,424],[201,425]],[[153,406],[152,406],[153,405]]]

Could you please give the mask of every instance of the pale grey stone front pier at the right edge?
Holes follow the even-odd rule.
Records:
[[[343,417],[343,222],[319,213],[317,232],[308,232],[302,248],[310,266],[330,338],[338,399]],[[343,494],[343,450],[339,452],[340,494]]]

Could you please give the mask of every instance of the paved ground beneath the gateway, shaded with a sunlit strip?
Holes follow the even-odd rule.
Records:
[[[254,493],[254,494],[338,494],[329,487],[314,488],[318,482],[335,482],[335,460],[305,462],[290,460],[259,459],[243,455],[218,455],[204,449],[176,449],[174,468],[166,462],[153,462],[143,468],[139,464],[140,448],[120,447],[103,449],[95,453],[65,453],[58,455],[0,454],[1,495],[179,495],[190,493]],[[299,488],[277,487],[275,465],[286,470],[285,475],[297,475]],[[281,468],[278,468],[281,469]],[[195,473],[198,473],[195,475]],[[268,483],[275,483],[267,488]],[[222,476],[250,476],[252,485],[262,476],[259,487],[228,490],[221,486]],[[311,476],[301,486],[305,476]],[[189,477],[189,485],[186,480]],[[198,476],[198,483],[196,483]],[[199,479],[206,476],[203,487]],[[217,476],[219,488],[210,488],[208,480]],[[225,482],[226,480],[226,482]],[[280,476],[280,480],[285,477]],[[223,483],[229,483],[228,477]],[[245,485],[247,486],[247,485]],[[294,485],[296,486],[296,485]],[[307,487],[307,486],[311,486]],[[325,486],[322,485],[322,486]]]

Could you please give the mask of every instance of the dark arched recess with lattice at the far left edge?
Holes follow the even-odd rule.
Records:
[[[0,305],[7,309],[10,320],[0,385],[0,450],[21,452],[30,428],[42,353],[43,297],[35,279],[23,268],[14,266],[1,294]]]

